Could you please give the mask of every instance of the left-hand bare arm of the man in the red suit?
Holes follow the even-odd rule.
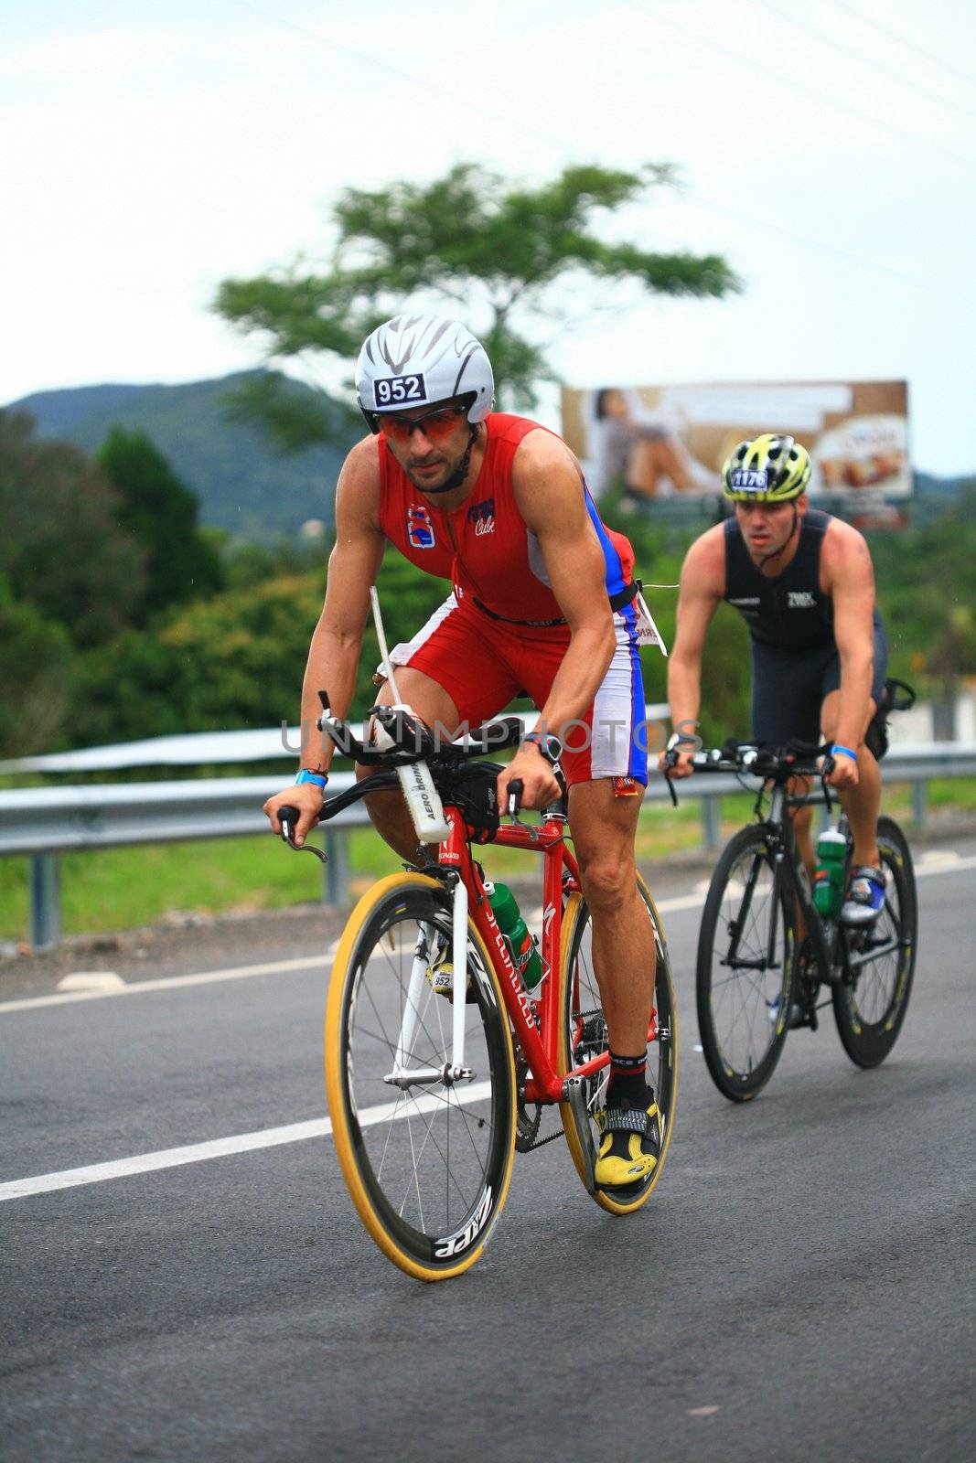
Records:
[[[332,761],[335,746],[315,726],[322,714],[319,691],[328,692],[334,715],[347,715],[369,616],[369,590],[382,557],[378,443],[376,437],[364,437],[342,464],[335,489],[335,547],[301,688],[301,767],[325,772]],[[322,806],[322,790],[309,783],[269,797],[265,812],[275,830],[277,809],[285,803],[294,803],[301,813],[296,841],[303,843]]]

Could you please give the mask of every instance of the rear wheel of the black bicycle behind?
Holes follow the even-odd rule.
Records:
[[[833,988],[841,1045],[857,1067],[876,1067],[894,1046],[909,1008],[919,906],[909,843],[891,818],[878,819],[885,873],[884,909],[869,929],[843,930],[844,976]]]

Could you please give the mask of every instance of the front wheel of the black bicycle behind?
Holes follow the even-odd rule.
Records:
[[[796,944],[790,906],[762,828],[740,828],[711,876],[695,977],[705,1064],[730,1102],[765,1087],[786,1042]]]

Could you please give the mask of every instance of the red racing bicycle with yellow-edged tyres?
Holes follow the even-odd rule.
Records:
[[[515,1150],[560,1137],[538,1137],[546,1106],[559,1106],[577,1172],[601,1208],[628,1214],[647,1203],[675,1121],[677,1012],[661,922],[638,881],[657,949],[647,1072],[660,1159],[645,1179],[601,1189],[593,1173],[609,1078],[607,1028],[590,910],[566,843],[565,794],[538,824],[518,819],[517,797],[509,822],[492,809],[500,767],[471,758],[514,746],[522,734],[518,718],[438,746],[402,708],[373,714],[388,733],[385,753],[364,748],[328,712],[322,720],[357,762],[385,764],[326,797],[322,821],[372,791],[399,787],[398,768],[420,767],[430,774],[426,812],[436,816],[442,806],[446,837],[436,859],[380,879],[348,919],[328,993],[325,1081],[335,1150],[366,1229],[407,1274],[443,1280],[468,1270],[490,1239]],[[279,811],[287,841],[296,816]],[[474,840],[543,859],[543,974],[531,995],[496,923]],[[452,989],[445,995],[433,973],[448,960]]]

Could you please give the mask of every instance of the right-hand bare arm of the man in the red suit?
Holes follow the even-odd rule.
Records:
[[[515,454],[512,489],[525,525],[538,540],[550,588],[569,626],[569,647],[540,712],[546,730],[560,736],[590,707],[616,650],[606,566],[587,512],[582,475],[565,442],[549,432],[530,433]],[[517,753],[499,778],[500,796],[512,777],[525,783],[527,806],[543,806],[555,796],[549,767],[531,746]]]

